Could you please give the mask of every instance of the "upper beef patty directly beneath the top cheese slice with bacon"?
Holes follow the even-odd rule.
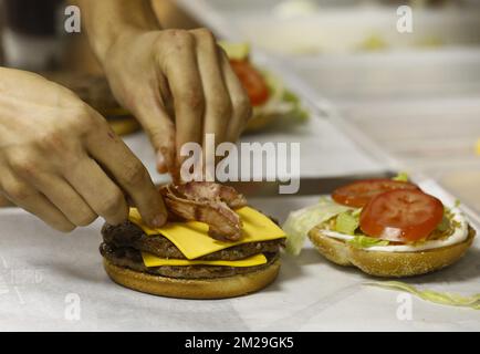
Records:
[[[147,236],[138,226],[131,221],[125,221],[118,226],[104,225],[102,235],[104,242],[115,249],[132,248],[153,253],[159,258],[186,259],[178,248],[166,237],[161,235]],[[283,243],[284,239],[243,243],[206,254],[198,259],[234,261],[258,253],[276,253]]]

